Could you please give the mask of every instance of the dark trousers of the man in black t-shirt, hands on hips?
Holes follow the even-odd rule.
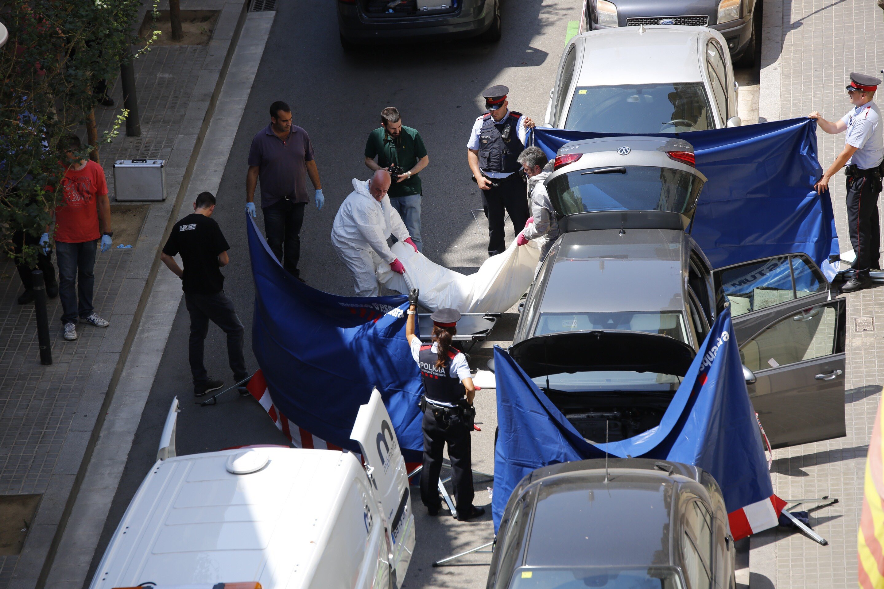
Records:
[[[190,357],[190,372],[194,375],[194,386],[209,380],[206,366],[202,363],[202,348],[206,334],[209,333],[209,321],[227,334],[227,359],[230,361],[234,382],[246,378],[246,359],[242,355],[242,336],[245,329],[224,291],[210,295],[185,292],[184,302],[190,313],[190,344],[187,353]]]

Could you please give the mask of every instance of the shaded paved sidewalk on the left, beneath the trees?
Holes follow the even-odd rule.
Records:
[[[134,238],[126,242],[132,243],[133,249],[114,248],[98,255],[95,311],[110,321],[110,327],[80,326],[80,339],[66,342],[58,321],[60,304],[57,298],[50,300],[54,364],[41,366],[33,306],[16,305],[21,292],[19,277],[9,261],[0,263],[0,495],[41,497],[34,517],[27,521],[21,554],[0,555],[0,589],[63,586],[57,581],[64,576],[58,573],[47,584],[49,570],[44,570],[44,563],[59,546],[64,548],[62,532],[74,507],[72,490],[79,490],[84,480],[84,457],[88,462],[92,455],[103,420],[110,413],[113,393],[122,389],[128,394],[126,386],[118,385],[132,384],[121,373],[136,340],[137,320],[147,306],[156,248],[176,202],[180,202],[179,192],[183,196],[194,173],[195,154],[208,127],[204,119],[213,98],[217,100],[217,80],[226,72],[228,48],[239,31],[238,23],[244,21],[240,19],[240,15],[244,17],[241,0],[186,0],[182,4],[190,10],[220,11],[211,42],[155,47],[136,59],[141,137],[126,137],[124,127],[100,152],[115,219],[120,209],[114,207],[113,200],[114,160],[166,160],[167,199],[149,205],[143,223],[133,231]],[[119,84],[112,95],[120,105]],[[116,114],[96,109],[99,132],[109,127]],[[118,245],[116,239],[114,245]],[[164,340],[155,353],[157,358],[163,347]],[[113,417],[111,414],[108,419]],[[123,464],[127,451],[118,448]],[[91,554],[87,567],[90,559]],[[80,585],[82,580],[72,586]]]

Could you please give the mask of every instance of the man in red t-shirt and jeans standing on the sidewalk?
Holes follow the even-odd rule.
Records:
[[[110,323],[95,313],[92,293],[95,287],[95,250],[98,240],[102,253],[110,249],[110,200],[104,170],[91,160],[74,155],[80,138],[66,135],[60,142],[68,169],[62,178],[61,204],[55,210],[58,296],[61,298],[61,322],[65,339],[77,339],[77,321],[96,328]]]

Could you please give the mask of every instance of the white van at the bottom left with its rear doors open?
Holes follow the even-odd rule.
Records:
[[[176,399],[156,464],[91,589],[401,586],[415,517],[405,461],[377,390],[351,434],[365,467],[347,451],[284,447],[175,457],[177,412]]]

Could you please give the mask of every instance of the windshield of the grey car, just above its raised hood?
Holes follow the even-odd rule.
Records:
[[[678,311],[607,312],[607,313],[540,313],[535,336],[563,331],[593,331],[621,329],[644,331],[673,337],[689,344],[685,335],[682,313]]]

